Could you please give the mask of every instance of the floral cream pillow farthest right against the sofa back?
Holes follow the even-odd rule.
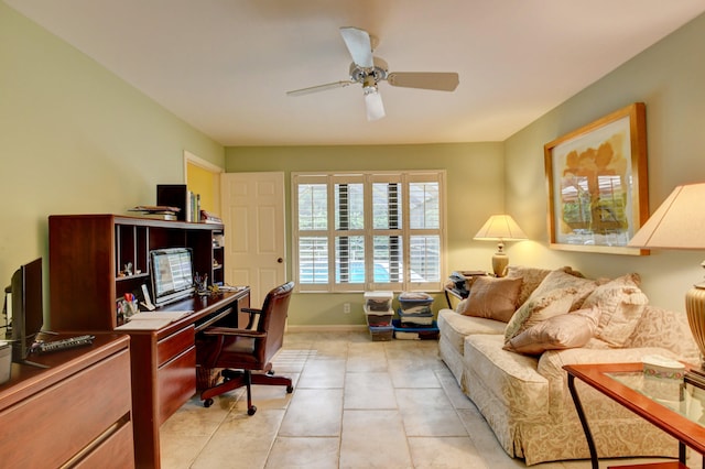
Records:
[[[605,283],[585,299],[584,307],[600,309],[596,337],[615,347],[623,347],[633,332],[649,298],[639,288],[641,277],[628,274]]]

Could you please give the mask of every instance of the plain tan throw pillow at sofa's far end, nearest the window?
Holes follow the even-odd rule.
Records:
[[[517,309],[519,288],[521,279],[479,276],[473,282],[465,309],[458,313],[507,323]]]

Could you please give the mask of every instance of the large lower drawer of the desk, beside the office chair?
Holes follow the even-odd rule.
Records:
[[[196,347],[165,363],[156,372],[159,424],[163,424],[196,393]]]

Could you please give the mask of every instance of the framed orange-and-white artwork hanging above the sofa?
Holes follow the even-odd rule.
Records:
[[[551,248],[649,253],[627,247],[649,217],[643,102],[546,143],[544,156]]]

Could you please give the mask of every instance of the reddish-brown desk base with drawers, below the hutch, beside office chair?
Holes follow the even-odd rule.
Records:
[[[194,313],[159,330],[124,330],[131,341],[134,457],[138,468],[160,467],[160,425],[196,393],[196,331],[209,324],[237,327],[250,290],[194,296],[162,309]]]

